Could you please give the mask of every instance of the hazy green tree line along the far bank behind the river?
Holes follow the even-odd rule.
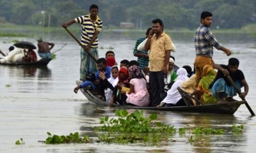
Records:
[[[0,24],[60,27],[88,14],[91,4],[99,6],[104,28],[132,22],[135,28],[145,29],[154,18],[161,18],[166,29],[195,29],[205,10],[213,14],[212,28],[239,29],[256,21],[255,0],[1,0]]]

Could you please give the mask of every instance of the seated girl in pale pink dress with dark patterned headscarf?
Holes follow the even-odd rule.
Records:
[[[130,91],[122,91],[126,93],[126,103],[131,103],[136,106],[148,106],[149,94],[147,91],[147,81],[143,78],[143,73],[138,66],[130,66],[128,69],[130,80]]]

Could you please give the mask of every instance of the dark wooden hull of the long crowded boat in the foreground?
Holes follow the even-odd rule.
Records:
[[[76,82],[80,85],[80,81]],[[92,104],[99,106],[109,106],[106,101],[102,101],[98,94],[95,94],[92,89],[80,89],[88,101]],[[246,101],[233,101],[227,103],[214,103],[209,105],[191,105],[191,106],[172,106],[172,107],[141,107],[129,105],[113,105],[115,108],[121,109],[143,109],[143,110],[157,110],[167,112],[199,112],[199,113],[221,113],[221,114],[234,114],[240,105]]]

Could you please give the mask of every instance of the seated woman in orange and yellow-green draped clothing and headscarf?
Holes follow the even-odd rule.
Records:
[[[191,95],[198,94],[200,92],[204,100],[204,104],[217,103],[217,99],[212,97],[211,91],[209,90],[209,85],[212,83],[216,77],[216,71],[210,65],[205,65],[202,70],[202,78],[198,84],[197,89],[191,93]]]

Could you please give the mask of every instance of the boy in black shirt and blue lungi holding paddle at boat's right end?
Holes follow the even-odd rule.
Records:
[[[209,88],[211,89],[212,96],[217,98],[218,103],[223,103],[223,98],[226,98],[227,101],[236,101],[233,99],[236,96],[236,90],[228,81],[226,77],[228,75],[230,75],[230,78],[232,78],[239,90],[241,90],[241,87],[244,87],[244,92],[241,92],[241,95],[239,95],[240,98],[245,98],[248,94],[248,84],[244,78],[243,71],[238,69],[238,66],[239,60],[236,58],[230,58],[228,65],[214,64],[213,67],[218,69],[218,73]]]

